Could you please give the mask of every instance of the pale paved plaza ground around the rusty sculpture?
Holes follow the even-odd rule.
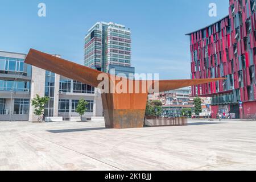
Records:
[[[0,122],[0,170],[255,170],[255,121],[105,129]]]

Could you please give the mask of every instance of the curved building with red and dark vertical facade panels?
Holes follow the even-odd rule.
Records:
[[[229,3],[228,16],[187,34],[191,78],[227,78],[192,86],[192,96],[212,97],[212,117],[221,111],[250,118],[256,113],[256,1]]]

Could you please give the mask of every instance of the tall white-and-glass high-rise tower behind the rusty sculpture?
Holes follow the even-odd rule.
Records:
[[[84,65],[98,71],[134,74],[131,67],[131,31],[116,23],[98,22],[85,36]]]

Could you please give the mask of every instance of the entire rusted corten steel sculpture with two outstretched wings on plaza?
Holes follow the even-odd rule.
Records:
[[[53,73],[83,82],[84,84],[92,85],[99,88],[100,82],[98,76],[103,74],[108,78],[109,88],[108,93],[102,93],[102,105],[104,109],[105,125],[108,128],[125,129],[131,127],[143,127],[144,114],[146,110],[146,102],[148,89],[150,86],[154,88],[159,86],[159,92],[164,92],[172,89],[183,88],[186,86],[205,84],[217,80],[224,80],[225,78],[210,78],[197,80],[160,80],[160,81],[139,81],[128,80],[126,78],[115,77],[108,73],[96,71],[95,69],[82,66],[80,64],[72,63],[59,57],[49,55],[35,49],[30,49],[25,63],[34,65],[42,69],[46,69]],[[111,92],[113,88],[119,86],[121,81],[129,82],[124,92]],[[113,88],[111,88],[113,84]],[[146,84],[146,89],[143,85]],[[136,85],[139,90],[135,90]],[[102,89],[102,88],[100,88]]]

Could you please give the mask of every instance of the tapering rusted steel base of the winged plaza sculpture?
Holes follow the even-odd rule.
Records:
[[[101,94],[108,128],[143,127],[147,94]]]

